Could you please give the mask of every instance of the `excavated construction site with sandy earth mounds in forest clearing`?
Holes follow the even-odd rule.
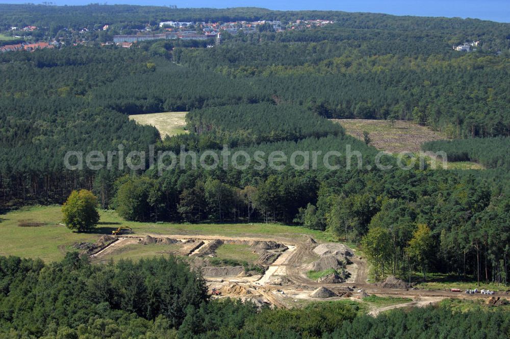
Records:
[[[238,298],[262,307],[302,307],[310,302],[387,297],[388,305],[369,305],[369,313],[397,307],[420,307],[445,298],[484,298],[507,303],[506,292],[465,294],[457,290],[428,290],[409,286],[393,276],[368,282],[367,261],[341,243],[317,243],[308,235],[283,237],[227,237],[214,235],[104,235],[95,244],[77,248],[95,263],[121,258],[174,255],[200,270],[213,298]],[[119,234],[120,233],[120,234]],[[236,260],[236,258],[242,258]]]

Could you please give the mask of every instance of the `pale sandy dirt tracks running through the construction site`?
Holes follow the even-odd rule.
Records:
[[[101,250],[100,252],[92,255],[91,257],[95,260],[105,259],[108,255],[121,251],[122,247],[130,244],[137,244],[139,240],[145,235],[152,237],[161,237],[161,234],[143,234],[143,235],[123,235],[119,236],[117,241],[114,241],[110,246]],[[402,304],[379,307],[372,309],[370,314],[376,315],[381,311],[397,308],[397,307],[419,307],[428,305],[429,303],[438,302],[444,298],[466,298],[466,299],[479,299],[486,296],[480,295],[466,295],[458,292],[450,292],[449,290],[424,290],[424,289],[391,289],[381,288],[374,284],[367,282],[367,263],[364,259],[353,256],[350,257],[352,263],[348,265],[347,270],[352,272],[351,279],[345,283],[337,284],[324,284],[313,281],[306,276],[307,265],[318,258],[317,254],[313,252],[316,244],[311,244],[307,241],[307,238],[303,236],[302,240],[289,239],[281,236],[277,237],[264,237],[264,236],[246,236],[246,237],[227,237],[227,236],[215,236],[215,235],[169,235],[165,234],[165,237],[170,237],[177,240],[203,240],[211,241],[214,239],[221,240],[244,240],[244,241],[275,241],[279,244],[287,246],[289,249],[283,252],[279,257],[269,265],[266,269],[266,273],[258,277],[242,277],[242,276],[225,276],[220,278],[206,277],[209,281],[210,288],[221,289],[228,284],[237,283],[246,288],[246,290],[257,291],[256,294],[250,295],[232,295],[232,297],[243,297],[253,298],[260,297],[264,299],[264,302],[270,303],[275,307],[292,307],[292,302],[296,300],[292,299],[293,296],[299,299],[309,299],[317,301],[318,299],[310,298],[310,293],[321,286],[330,288],[332,290],[343,288],[350,289],[353,293],[352,300],[360,300],[360,293],[358,290],[362,290],[368,294],[375,294],[378,296],[393,296],[402,298],[412,298],[412,302],[403,302]],[[143,245],[140,245],[143,246]],[[196,252],[196,251],[195,251]],[[193,252],[193,253],[195,253]],[[189,252],[188,252],[189,253]],[[350,267],[350,270],[349,270]],[[285,279],[285,284],[274,284],[274,279]],[[276,293],[275,291],[280,291]],[[228,294],[223,294],[228,296]],[[327,300],[337,300],[341,297],[328,298]]]

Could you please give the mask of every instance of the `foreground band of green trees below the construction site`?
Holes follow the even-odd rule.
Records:
[[[209,299],[200,273],[172,257],[91,265],[77,253],[61,262],[0,257],[2,338],[504,338],[505,309],[448,303],[390,311],[376,318],[360,306],[315,303],[271,310]],[[490,326],[488,326],[490,324]]]

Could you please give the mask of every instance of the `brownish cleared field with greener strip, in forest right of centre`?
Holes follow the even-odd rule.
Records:
[[[426,141],[446,139],[441,132],[432,131],[414,122],[397,120],[392,127],[387,120],[333,119],[345,129],[345,132],[363,140],[363,131],[369,132],[371,145],[381,151],[390,153],[411,152],[416,155],[421,151],[421,144]],[[425,157],[427,163],[430,157]],[[438,166],[441,162],[438,162]],[[447,169],[484,169],[475,162],[448,162]]]

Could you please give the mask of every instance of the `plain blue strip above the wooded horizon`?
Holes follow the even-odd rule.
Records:
[[[510,22],[510,0],[46,0],[57,5],[86,5],[105,2],[129,5],[176,5],[187,7],[263,7],[273,10],[338,10],[394,15],[470,17]],[[27,0],[0,0],[22,4]],[[42,3],[43,1],[30,1]]]

